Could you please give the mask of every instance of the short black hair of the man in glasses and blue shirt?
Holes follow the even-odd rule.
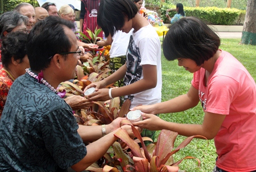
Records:
[[[65,34],[64,26],[72,28],[73,24],[58,16],[48,16],[38,22],[28,35],[27,55],[33,71],[47,68],[51,57],[57,53],[68,52],[71,42]]]

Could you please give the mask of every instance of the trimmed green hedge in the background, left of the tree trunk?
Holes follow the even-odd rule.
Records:
[[[163,4],[160,8],[161,18],[164,23],[170,21],[166,18],[166,10],[176,8],[173,5]],[[236,8],[217,8],[217,7],[184,7],[186,16],[195,16],[204,20],[207,24],[213,25],[243,25],[245,19],[245,10],[238,10]],[[169,12],[172,17],[176,11]]]

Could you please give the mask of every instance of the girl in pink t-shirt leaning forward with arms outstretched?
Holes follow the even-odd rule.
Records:
[[[144,119],[133,124],[214,139],[218,157],[213,171],[256,171],[255,81],[232,54],[219,46],[220,38],[197,18],[182,18],[172,24],[163,41],[163,53],[193,73],[191,88],[172,100],[133,108],[143,111]],[[203,124],[166,122],[152,115],[184,111],[199,101],[204,110]]]

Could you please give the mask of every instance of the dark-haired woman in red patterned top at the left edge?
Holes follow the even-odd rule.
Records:
[[[30,67],[26,44],[27,34],[23,32],[11,32],[2,40],[3,68],[0,70],[0,118],[13,81],[25,74],[26,68]]]

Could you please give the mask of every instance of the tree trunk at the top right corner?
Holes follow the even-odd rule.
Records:
[[[241,44],[256,45],[256,0],[248,0]]]

